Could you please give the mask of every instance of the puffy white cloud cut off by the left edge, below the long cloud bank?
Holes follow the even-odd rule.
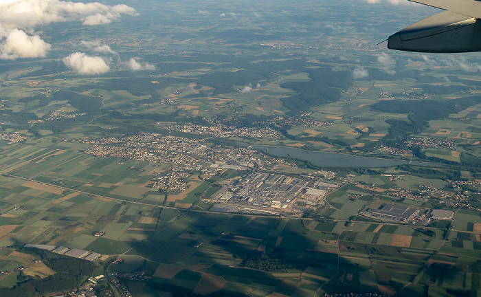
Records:
[[[28,36],[23,30],[14,29],[0,43],[0,58],[14,60],[45,57],[51,47],[38,35]]]

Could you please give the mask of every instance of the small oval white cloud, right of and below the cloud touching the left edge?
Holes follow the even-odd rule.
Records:
[[[93,75],[109,72],[110,67],[99,56],[89,56],[85,53],[76,52],[63,58],[63,63],[78,74]]]

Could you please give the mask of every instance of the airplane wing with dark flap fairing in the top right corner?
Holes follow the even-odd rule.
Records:
[[[446,10],[397,32],[388,48],[410,52],[481,52],[481,2],[409,0]]]

